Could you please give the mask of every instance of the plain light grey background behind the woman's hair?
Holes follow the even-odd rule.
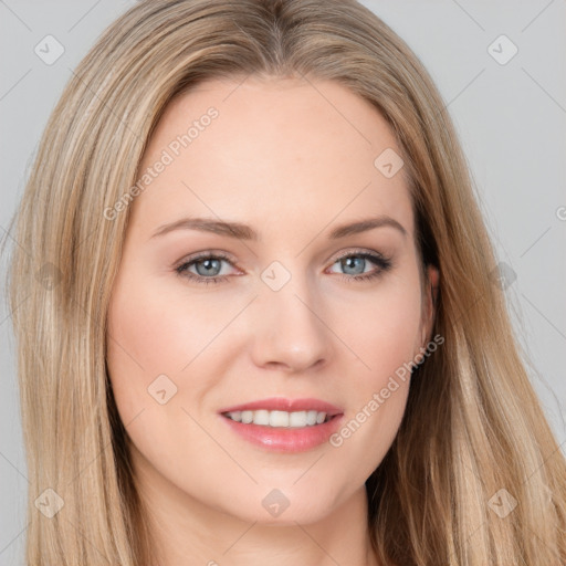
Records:
[[[566,447],[566,3],[564,0],[364,1],[424,63],[468,156],[531,376]],[[0,235],[71,70],[133,1],[0,0]],[[46,35],[64,53],[45,64]],[[489,52],[505,34],[505,64]],[[500,46],[501,44],[501,46]],[[511,44],[495,42],[500,60]],[[53,53],[54,51],[51,51]],[[13,244],[13,241],[11,241]],[[2,275],[6,259],[2,259]],[[2,289],[3,294],[3,289]],[[0,306],[0,565],[23,564],[27,470],[10,311]]]

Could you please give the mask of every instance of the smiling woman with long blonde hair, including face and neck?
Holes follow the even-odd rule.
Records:
[[[17,240],[29,564],[565,563],[454,129],[361,6],[139,2]]]

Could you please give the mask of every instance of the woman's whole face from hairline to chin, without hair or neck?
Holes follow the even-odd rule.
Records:
[[[167,107],[132,191],[107,342],[154,494],[292,524],[361,493],[431,323],[399,154],[333,82],[208,81]]]

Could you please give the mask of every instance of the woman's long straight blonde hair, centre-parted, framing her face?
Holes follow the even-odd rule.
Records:
[[[23,195],[10,268],[29,470],[27,563],[156,564],[105,365],[106,312],[148,138],[208,77],[332,80],[369,101],[402,150],[433,333],[406,413],[366,482],[384,564],[566,564],[566,463],[520,357],[454,128],[416,55],[353,0],[145,0],[73,73]],[[41,269],[38,272],[38,268]],[[34,276],[34,274],[36,276]],[[53,489],[52,518],[34,505]],[[506,516],[490,501],[516,500]],[[496,500],[500,501],[500,500]]]

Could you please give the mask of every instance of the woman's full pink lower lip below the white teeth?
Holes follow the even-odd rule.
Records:
[[[273,452],[306,452],[328,441],[336,432],[344,415],[336,415],[322,424],[302,428],[275,428],[262,424],[244,424],[220,416],[242,438]]]

